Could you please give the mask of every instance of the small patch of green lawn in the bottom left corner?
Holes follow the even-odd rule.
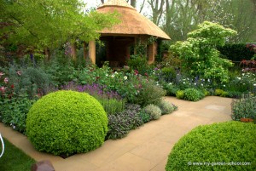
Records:
[[[5,151],[0,159],[1,171],[27,171],[31,170],[32,164],[36,161],[32,157],[27,156],[19,148],[12,145],[8,140],[3,139]],[[2,151],[0,147],[0,151]]]

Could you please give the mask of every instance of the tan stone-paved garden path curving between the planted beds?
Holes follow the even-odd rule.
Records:
[[[184,134],[198,125],[231,120],[231,99],[206,97],[189,102],[166,97],[178,111],[132,130],[122,140],[108,140],[89,153],[66,159],[35,151],[26,136],[0,123],[0,132],[37,161],[49,160],[56,171],[164,171],[168,154]]]

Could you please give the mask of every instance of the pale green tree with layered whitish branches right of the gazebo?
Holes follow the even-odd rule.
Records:
[[[236,34],[234,30],[205,21],[188,33],[187,41],[178,41],[171,50],[179,56],[183,70],[190,75],[225,83],[229,81],[228,68],[233,64],[219,57],[217,46],[224,46],[227,38]]]

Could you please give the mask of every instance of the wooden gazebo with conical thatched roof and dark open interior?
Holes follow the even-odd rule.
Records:
[[[170,40],[158,26],[154,25],[143,14],[137,12],[125,0],[108,0],[103,3],[97,11],[99,13],[118,12],[121,22],[111,29],[101,31],[101,40],[106,42],[106,60],[113,67],[124,66],[125,61],[130,58],[130,48],[138,41],[146,42],[149,37],[157,37],[161,40]],[[148,63],[154,63],[157,54],[157,43],[148,45]],[[136,52],[134,52],[136,53]],[[96,63],[96,43],[90,41],[89,56],[92,63]]]

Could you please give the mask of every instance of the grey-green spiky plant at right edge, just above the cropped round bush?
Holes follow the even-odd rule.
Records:
[[[243,95],[241,99],[233,100],[231,103],[232,119],[240,121],[241,118],[256,119],[256,97]]]

